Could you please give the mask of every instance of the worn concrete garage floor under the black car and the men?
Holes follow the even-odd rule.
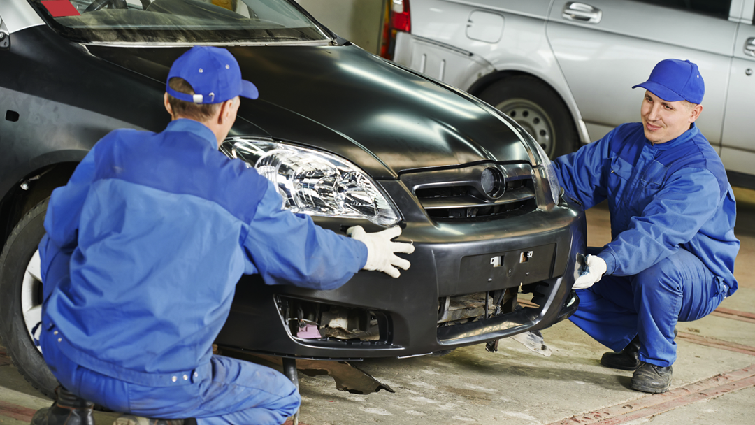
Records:
[[[631,372],[599,365],[605,347],[562,322],[543,331],[550,357],[508,339],[501,340],[498,353],[470,346],[442,357],[359,364],[396,393],[344,393],[327,375],[300,374],[300,423],[750,425],[755,417],[755,192],[735,192],[740,288],[710,316],[677,326],[670,392],[630,390]],[[610,241],[608,210],[601,207],[587,214],[590,245]],[[0,346],[0,424],[29,423],[35,409],[49,404]],[[96,414],[100,425],[114,417]]]

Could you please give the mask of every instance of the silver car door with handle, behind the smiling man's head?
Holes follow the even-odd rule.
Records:
[[[630,88],[644,82],[659,60],[672,57],[698,64],[706,85],[698,125],[720,146],[737,23],[629,0],[584,2],[600,12],[596,23],[588,23],[565,17],[571,3],[553,2],[547,36],[593,140],[622,122],[639,121],[644,92]]]

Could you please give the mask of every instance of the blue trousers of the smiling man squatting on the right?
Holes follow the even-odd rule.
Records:
[[[676,360],[676,322],[701,319],[726,297],[723,282],[683,249],[634,276],[603,276],[577,294],[575,325],[616,352],[639,336],[639,359],[663,367]]]

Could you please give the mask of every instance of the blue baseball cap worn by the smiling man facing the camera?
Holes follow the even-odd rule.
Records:
[[[702,103],[705,83],[700,70],[689,60],[664,59],[650,72],[648,81],[632,86],[642,87],[667,102],[687,100]]]

